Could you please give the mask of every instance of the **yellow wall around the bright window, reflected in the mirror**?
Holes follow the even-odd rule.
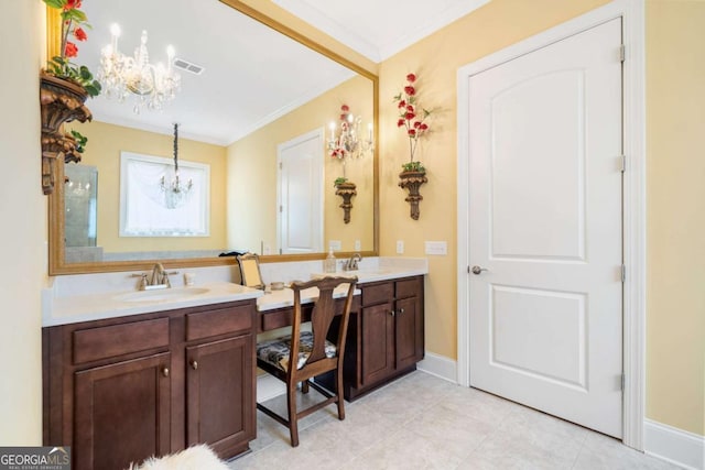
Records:
[[[120,152],[172,159],[174,138],[97,121],[72,127],[88,138],[82,163],[98,167],[98,245],[106,253],[227,248],[224,146],[178,138],[180,161],[210,165],[210,237],[119,237]]]

